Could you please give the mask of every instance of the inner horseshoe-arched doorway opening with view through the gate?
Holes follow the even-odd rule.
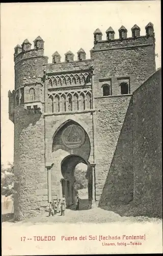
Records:
[[[79,166],[85,165],[85,170]],[[79,209],[88,209],[91,204],[91,185],[90,185],[90,164],[84,158],[77,155],[69,155],[61,162],[61,172],[63,179],[62,193],[66,197],[68,207],[75,209],[75,197],[78,195]],[[84,190],[83,190],[84,188]],[[87,191],[86,191],[87,190]],[[82,195],[82,194],[85,195]]]

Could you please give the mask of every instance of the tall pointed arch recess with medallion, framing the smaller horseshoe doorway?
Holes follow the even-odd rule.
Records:
[[[65,121],[57,128],[52,138],[52,167],[48,172],[48,200],[66,196],[67,206],[75,203],[75,167],[79,163],[87,166],[88,200],[92,204],[91,143],[84,127],[73,120]]]

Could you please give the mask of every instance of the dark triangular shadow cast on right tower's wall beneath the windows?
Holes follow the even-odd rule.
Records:
[[[131,97],[113,160],[99,200],[99,207],[128,204],[133,200]]]

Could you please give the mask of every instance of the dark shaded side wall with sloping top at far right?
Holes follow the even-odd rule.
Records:
[[[134,201],[150,203],[160,211],[161,165],[161,70],[133,93]]]

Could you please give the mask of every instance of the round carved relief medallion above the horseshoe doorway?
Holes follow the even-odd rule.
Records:
[[[82,127],[72,124],[63,131],[62,141],[68,148],[80,147],[85,142],[85,131]]]

